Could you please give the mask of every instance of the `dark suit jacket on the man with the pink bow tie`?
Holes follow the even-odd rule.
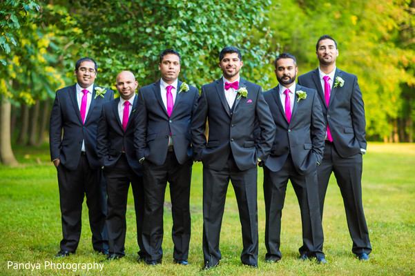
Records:
[[[239,88],[248,95],[235,99],[233,112],[224,95],[223,79],[202,86],[197,109],[192,119],[191,133],[195,160],[206,168],[221,170],[232,152],[240,170],[253,168],[258,158],[268,156],[276,126],[262,95],[262,88],[240,78]],[[238,95],[239,96],[239,95]],[[209,141],[204,130],[209,121]],[[259,136],[254,135],[260,129]]]

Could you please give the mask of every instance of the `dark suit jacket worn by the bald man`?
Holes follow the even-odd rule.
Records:
[[[137,175],[142,175],[142,165],[139,164],[134,148],[135,117],[138,113],[137,98],[136,95],[125,132],[118,114],[120,98],[113,99],[102,106],[97,128],[97,154],[99,164],[104,168],[115,166],[125,149],[128,165]]]

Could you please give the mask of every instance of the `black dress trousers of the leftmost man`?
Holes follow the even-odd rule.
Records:
[[[106,182],[102,170],[90,168],[86,155],[81,155],[76,170],[62,164],[57,167],[63,239],[61,250],[75,251],[81,236],[82,203],[86,196],[93,248],[108,249],[106,230]]]

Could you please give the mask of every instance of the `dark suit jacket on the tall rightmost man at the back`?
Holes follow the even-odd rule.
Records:
[[[298,77],[298,83],[318,91],[334,147],[341,157],[349,157],[360,153],[360,148],[366,149],[367,146],[365,105],[355,75],[336,68],[333,83],[336,82],[336,77],[341,77],[345,83],[342,87],[333,85],[328,108],[318,68]]]

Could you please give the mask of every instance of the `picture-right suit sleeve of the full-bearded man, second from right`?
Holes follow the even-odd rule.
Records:
[[[326,126],[317,92],[313,95],[313,110],[311,111],[310,129],[311,143],[313,144],[313,148],[311,148],[311,151],[316,155],[318,163],[321,163],[322,152],[325,147]]]

